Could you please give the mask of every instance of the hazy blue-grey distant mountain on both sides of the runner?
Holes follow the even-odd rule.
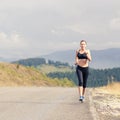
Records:
[[[74,65],[75,50],[57,51],[52,54],[42,56],[45,59],[68,62]],[[92,61],[90,67],[95,69],[120,67],[120,48],[109,48],[103,50],[91,50]]]

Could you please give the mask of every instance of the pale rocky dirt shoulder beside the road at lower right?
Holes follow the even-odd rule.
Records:
[[[92,98],[100,120],[120,120],[120,94],[94,88]]]

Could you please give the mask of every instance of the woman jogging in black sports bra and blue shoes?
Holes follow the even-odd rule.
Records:
[[[80,41],[80,49],[76,51],[75,64],[76,73],[78,77],[78,91],[79,100],[84,100],[85,88],[87,84],[87,78],[89,74],[89,62],[91,61],[90,50],[86,49],[87,42],[85,40]]]

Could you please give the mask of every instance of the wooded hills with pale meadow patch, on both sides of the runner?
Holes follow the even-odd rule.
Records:
[[[25,60],[19,60],[14,63],[22,64],[25,66],[36,67],[42,73],[47,74],[52,79],[58,78],[62,81],[67,78],[69,81],[78,84],[78,79],[75,72],[75,67],[70,66],[68,63],[61,63],[59,61],[46,61],[44,58],[29,58]],[[19,68],[19,66],[17,66]],[[89,87],[104,86],[112,81],[120,81],[120,68],[113,69],[92,69],[90,68],[88,77]],[[56,83],[57,84],[57,83]],[[63,84],[63,83],[62,83]]]

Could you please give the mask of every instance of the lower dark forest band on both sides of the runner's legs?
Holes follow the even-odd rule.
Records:
[[[91,69],[89,70],[89,77],[87,85],[88,87],[98,87],[107,85],[108,82],[111,83],[113,81],[120,82],[120,68],[113,69]],[[75,70],[72,72],[52,72],[48,73],[47,76],[52,78],[68,78],[73,81],[76,85],[78,84],[78,79],[76,76]]]

